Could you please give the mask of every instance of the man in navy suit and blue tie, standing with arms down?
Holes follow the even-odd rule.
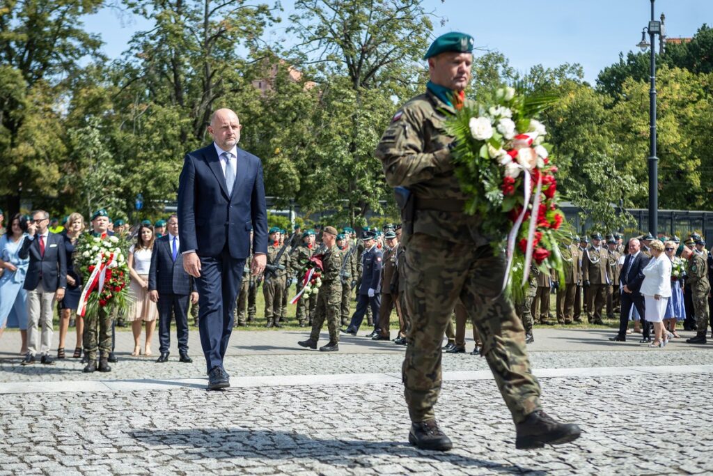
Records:
[[[178,360],[191,363],[188,356],[188,300],[198,303],[198,293],[193,290],[193,276],[183,269],[183,255],[178,253],[178,216],[171,215],[166,223],[168,234],[153,242],[151,268],[148,272],[148,293],[158,303],[158,363],[168,362],[171,345],[171,315],[176,319]]]

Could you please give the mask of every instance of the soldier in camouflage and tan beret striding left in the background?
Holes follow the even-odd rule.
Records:
[[[326,318],[329,343],[319,348],[322,352],[339,350],[339,305],[342,303],[342,280],[339,279],[339,268],[342,267],[344,253],[337,247],[336,240],[337,229],[325,226],[322,231],[322,243],[327,249],[322,258],[322,287],[319,288],[317,295],[317,312],[314,313],[309,339],[299,342],[302,347],[316,349],[319,332]]]

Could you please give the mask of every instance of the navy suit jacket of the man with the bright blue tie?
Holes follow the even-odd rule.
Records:
[[[153,242],[148,290],[157,290],[159,294],[188,295],[193,291],[193,276],[183,269],[183,255],[178,253],[176,260],[173,260],[171,238],[169,233]]]

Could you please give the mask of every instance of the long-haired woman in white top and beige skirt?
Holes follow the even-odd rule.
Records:
[[[131,282],[129,295],[132,299],[128,320],[134,335],[134,351],[131,355],[141,353],[141,326],[146,322],[146,345],[144,355],[151,355],[151,337],[158,318],[158,307],[148,298],[148,270],[151,268],[151,253],[153,251],[153,227],[142,225],[138,229],[136,244],[129,248],[128,265]]]

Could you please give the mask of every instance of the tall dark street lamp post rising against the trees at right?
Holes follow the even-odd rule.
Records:
[[[659,158],[656,156],[656,44],[654,38],[660,36],[661,52],[664,49],[664,16],[661,15],[661,21],[654,19],[654,3],[656,0],[651,0],[651,20],[649,26],[645,27],[641,32],[641,41],[637,46],[642,51],[646,51],[651,47],[650,51],[650,79],[651,87],[649,89],[649,232],[653,236],[657,236],[659,228]],[[649,34],[650,43],[646,41],[646,34]]]

